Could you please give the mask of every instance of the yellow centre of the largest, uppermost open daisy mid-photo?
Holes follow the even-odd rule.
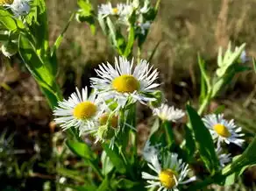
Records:
[[[120,75],[112,82],[113,88],[120,93],[132,93],[135,90],[139,90],[139,81],[132,75]]]

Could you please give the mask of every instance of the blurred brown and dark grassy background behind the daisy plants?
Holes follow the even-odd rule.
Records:
[[[97,0],[94,4],[105,2]],[[77,5],[70,0],[47,0],[46,4],[53,42]],[[159,44],[151,63],[159,68],[160,88],[169,104],[183,109],[188,100],[197,103],[200,90],[197,53],[210,70],[217,67],[218,47],[226,47],[229,41],[234,46],[245,42],[247,55],[256,56],[255,7],[256,0],[161,1],[142,58],[147,59]],[[97,29],[96,35],[92,35],[88,25],[74,20],[66,33],[58,53],[58,81],[65,97],[75,86],[89,85],[94,68],[106,60],[111,62],[115,56],[101,29]],[[252,66],[252,61],[245,64]],[[236,76],[229,88],[223,89],[210,104],[210,110],[223,104],[225,115],[235,118],[248,135],[256,132],[255,81],[256,74],[252,72]],[[91,174],[89,169],[66,151],[65,135],[53,123],[46,99],[18,55],[9,60],[0,54],[0,85],[0,190],[67,190],[59,183],[84,183]],[[143,107],[139,110],[142,144],[152,120],[150,110]],[[237,147],[231,151],[242,152]],[[237,185],[225,190],[256,190],[255,172],[256,168],[247,170]],[[224,190],[224,187],[212,188]]]

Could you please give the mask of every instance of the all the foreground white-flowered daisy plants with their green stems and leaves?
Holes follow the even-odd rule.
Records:
[[[10,8],[16,1],[0,3],[0,40],[4,55],[11,57],[18,52],[46,96],[56,124],[66,132],[66,145],[92,172],[84,185],[62,187],[200,190],[213,183],[231,184],[246,167],[256,164],[256,138],[246,147],[246,136],[238,124],[225,119],[223,114],[207,113],[210,101],[234,75],[251,69],[241,63],[245,45],[234,51],[230,45],[224,55],[220,49],[214,74],[208,73],[206,63],[199,57],[199,104],[192,107],[190,103],[181,110],[168,105],[158,89],[161,82],[157,68],[147,60],[132,58],[134,42],[138,40],[141,48],[159,3],[156,7],[148,0],[99,4],[96,13],[89,0],[78,0],[81,10],[71,15],[53,46],[49,45],[45,1],[20,0],[20,14]],[[90,79],[91,91],[89,87],[76,88],[63,99],[56,81],[59,70],[56,52],[73,18],[88,22],[93,32],[96,32],[96,20],[99,21],[120,56],[114,63],[103,63],[96,68],[96,76]],[[128,32],[127,39],[122,33],[123,27]],[[15,46],[7,46],[10,42]],[[151,109],[155,120],[152,127],[148,126],[150,134],[142,153],[138,146],[138,104]],[[175,136],[176,127],[183,132],[179,141]],[[90,144],[84,141],[89,137],[93,139]],[[245,152],[233,156],[224,143],[239,145]],[[94,145],[100,145],[99,152],[94,151]],[[193,167],[197,162],[202,164],[203,173]],[[74,178],[74,173],[70,175],[68,169],[67,172]]]

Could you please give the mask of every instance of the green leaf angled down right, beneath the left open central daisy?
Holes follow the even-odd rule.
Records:
[[[85,143],[68,139],[66,145],[68,145],[68,148],[77,156],[82,157],[82,159],[89,159],[91,161],[96,159],[96,154],[92,152],[89,145]]]

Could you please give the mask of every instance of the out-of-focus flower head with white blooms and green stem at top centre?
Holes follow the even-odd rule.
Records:
[[[160,1],[154,7],[149,0],[127,0],[125,4],[108,2],[98,5],[97,9],[93,8],[89,1],[78,1],[78,4],[81,8],[77,11],[78,20],[88,22],[93,28],[97,21],[117,53],[128,57],[132,55],[136,41],[138,42],[138,56],[140,56]]]

